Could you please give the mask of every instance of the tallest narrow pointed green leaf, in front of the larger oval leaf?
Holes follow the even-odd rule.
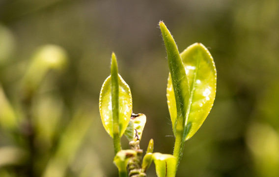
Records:
[[[180,57],[174,39],[171,36],[166,25],[162,21],[159,23],[159,25],[167,49],[168,67],[173,85],[172,91],[175,94],[174,100],[176,103],[176,107],[172,107],[172,112],[176,111],[177,114],[175,115],[178,116],[172,116],[171,122],[174,135],[176,135],[176,131],[182,132],[184,130],[187,105],[189,102],[189,85],[182,59]],[[169,104],[173,105],[173,102]]]

